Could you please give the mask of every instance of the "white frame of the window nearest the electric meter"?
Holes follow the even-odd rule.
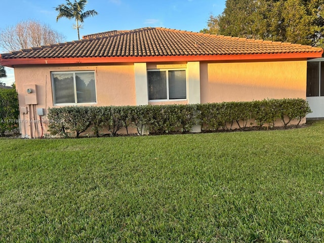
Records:
[[[77,96],[76,96],[76,82],[75,82],[75,73],[79,72],[93,72],[94,78],[95,78],[95,92],[96,92],[96,102],[86,102],[86,103],[78,103],[77,102]],[[74,100],[76,102],[74,103],[56,103],[56,97],[55,97],[55,86],[54,86],[54,74],[67,74],[72,73],[73,74],[73,87],[74,87]],[[91,104],[97,104],[98,97],[97,97],[97,82],[96,82],[96,72],[94,70],[86,70],[86,71],[58,71],[58,72],[51,72],[51,82],[52,82],[52,95],[53,95],[53,105],[54,106],[66,106],[66,105],[91,105]]]

